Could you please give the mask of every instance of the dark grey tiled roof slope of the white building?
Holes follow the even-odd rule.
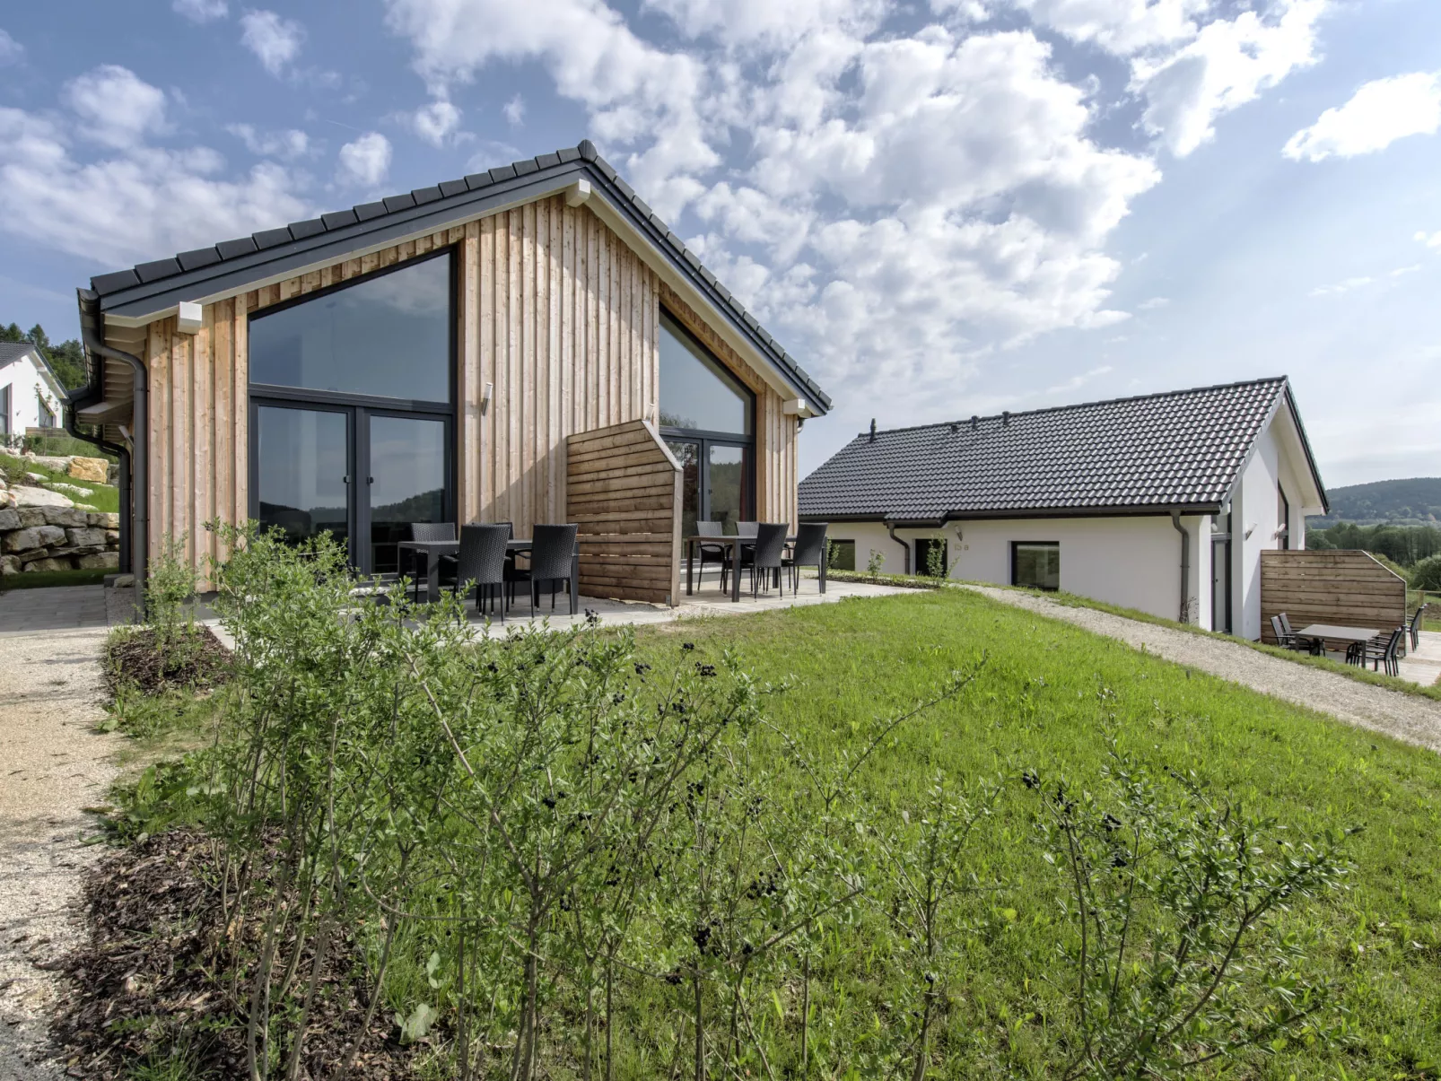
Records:
[[[1284,378],[862,432],[801,481],[810,517],[1035,515],[1212,506]],[[1319,484],[1320,481],[1317,481]]]

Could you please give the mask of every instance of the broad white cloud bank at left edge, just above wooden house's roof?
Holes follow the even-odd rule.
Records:
[[[208,147],[137,140],[82,160],[76,135],[88,138],[92,120],[0,108],[0,231],[115,267],[310,213],[280,166],[229,179]]]

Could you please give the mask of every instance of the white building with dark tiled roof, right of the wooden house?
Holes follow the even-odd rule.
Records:
[[[1326,513],[1287,379],[862,432],[800,486],[840,565],[1065,590],[1261,637],[1261,552]]]

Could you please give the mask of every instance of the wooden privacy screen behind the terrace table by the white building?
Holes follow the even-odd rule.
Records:
[[[1275,644],[1271,617],[1293,630],[1311,623],[1389,631],[1406,621],[1406,582],[1368,552],[1261,553],[1261,640]]]

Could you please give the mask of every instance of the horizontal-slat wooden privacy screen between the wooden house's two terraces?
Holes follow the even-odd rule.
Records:
[[[566,522],[579,526],[582,594],[679,601],[680,464],[650,424],[566,438]]]

